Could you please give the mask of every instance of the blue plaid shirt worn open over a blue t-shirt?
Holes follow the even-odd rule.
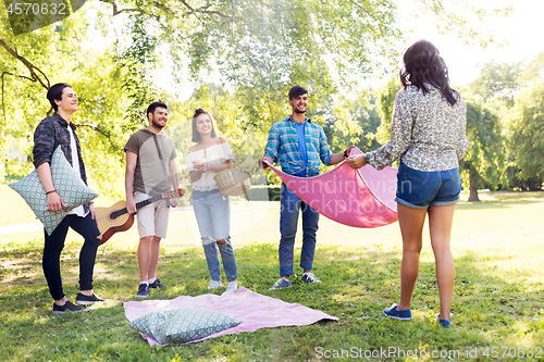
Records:
[[[292,116],[276,122],[270,127],[264,155],[270,157],[273,162],[279,162],[282,171],[293,175],[305,171],[306,174],[319,173],[320,160],[329,166],[331,149],[326,143],[323,128],[310,118],[306,117],[305,138],[308,152],[308,165],[305,165],[300,150],[298,149],[298,135]]]

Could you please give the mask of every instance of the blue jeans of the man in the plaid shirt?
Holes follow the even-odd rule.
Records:
[[[295,236],[297,234],[298,213],[302,210],[302,251],[300,253],[300,267],[311,271],[313,269],[313,254],[316,251],[316,233],[318,232],[319,213],[300,200],[285,184],[282,183],[280,211],[280,275],[293,275],[293,254]]]

